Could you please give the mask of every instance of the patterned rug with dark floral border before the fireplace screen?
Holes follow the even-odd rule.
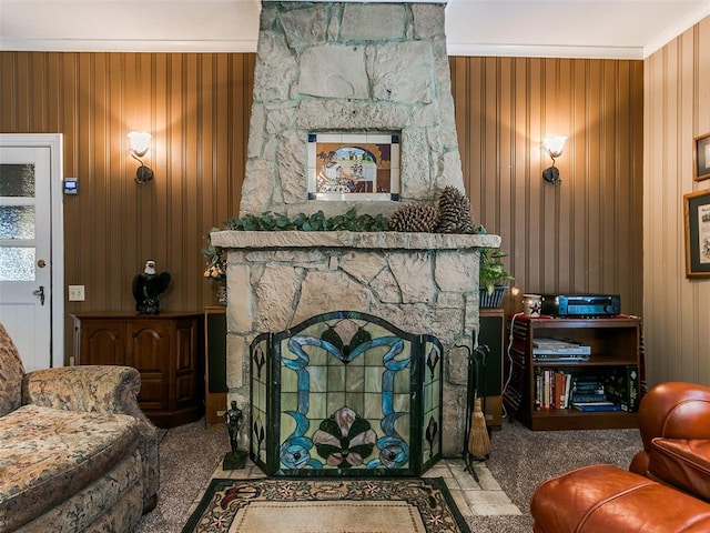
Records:
[[[221,480],[182,533],[470,533],[440,477]]]

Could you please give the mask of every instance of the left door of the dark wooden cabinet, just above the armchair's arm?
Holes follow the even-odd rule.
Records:
[[[128,364],[123,321],[84,319],[79,328],[79,364]]]

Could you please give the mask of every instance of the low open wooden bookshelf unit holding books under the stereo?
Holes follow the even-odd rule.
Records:
[[[537,376],[546,370],[572,376],[625,375],[627,390],[639,391],[640,320],[618,315],[595,319],[511,316],[513,345],[507,364],[511,380],[505,398],[508,409],[531,430],[582,430],[637,428],[635,409],[615,412],[582,412],[536,404]],[[535,356],[536,339],[564,339],[590,346],[587,361],[554,361]],[[518,401],[519,404],[516,404]]]

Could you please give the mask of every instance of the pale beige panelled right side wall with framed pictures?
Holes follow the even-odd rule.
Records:
[[[710,279],[686,278],[683,194],[693,138],[710,132],[710,17],[645,62],[643,322],[649,384],[710,386]]]

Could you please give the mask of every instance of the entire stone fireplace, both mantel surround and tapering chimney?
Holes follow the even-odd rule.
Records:
[[[444,10],[445,2],[262,3],[240,215],[352,208],[389,215],[434,201],[447,185],[464,190]],[[308,194],[310,135],[371,131],[398,139],[397,194]],[[260,334],[332,311],[369,313],[442,342],[442,446],[460,455],[468,363],[460,346],[473,346],[478,328],[478,250],[499,247],[498,237],[220,231],[212,243],[229,249],[229,401],[248,403],[250,344]]]

